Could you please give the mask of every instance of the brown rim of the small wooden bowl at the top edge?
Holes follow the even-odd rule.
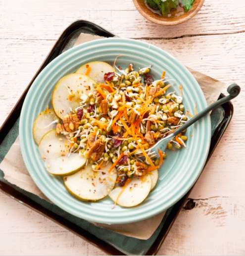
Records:
[[[178,25],[190,20],[200,10],[204,1],[205,0],[199,0],[196,2],[195,0],[194,5],[187,13],[185,13],[184,15],[180,15],[179,17],[174,19],[168,19],[168,18],[163,18],[162,16],[154,13],[147,6],[146,8],[142,8],[142,6],[146,5],[145,0],[133,0],[135,7],[137,8],[137,10],[140,12],[142,16],[144,16],[147,20],[151,22],[154,22],[159,25],[165,25],[165,26]]]

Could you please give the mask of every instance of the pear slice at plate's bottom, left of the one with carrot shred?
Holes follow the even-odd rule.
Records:
[[[116,169],[108,173],[111,164],[104,171],[94,171],[89,164],[73,175],[63,177],[67,191],[82,201],[98,201],[105,198],[116,182]]]

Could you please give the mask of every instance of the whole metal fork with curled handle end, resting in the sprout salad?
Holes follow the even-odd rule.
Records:
[[[194,124],[197,120],[199,120],[201,117],[203,117],[205,114],[207,114],[209,111],[215,109],[216,107],[220,106],[221,104],[228,102],[235,97],[239,95],[241,91],[241,88],[237,84],[231,84],[227,88],[227,92],[229,93],[228,96],[211,103],[208,107],[204,108],[201,110],[198,114],[196,114],[194,117],[192,117],[190,120],[188,120],[186,123],[181,125],[179,128],[174,130],[172,133],[170,133],[168,136],[165,138],[161,139],[158,141],[152,148],[150,148],[150,152],[158,154],[158,149],[162,152],[165,151],[167,144],[174,138],[176,137],[179,133],[184,131],[186,128],[188,128],[190,125]]]

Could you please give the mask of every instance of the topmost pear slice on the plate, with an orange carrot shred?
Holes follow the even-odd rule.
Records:
[[[91,61],[82,65],[76,73],[86,74],[88,67],[91,67],[88,75],[98,84],[104,84],[104,74],[114,72],[114,68],[104,61]]]

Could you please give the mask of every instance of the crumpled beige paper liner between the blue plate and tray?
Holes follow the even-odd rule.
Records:
[[[81,33],[74,43],[74,46],[101,38],[102,37],[99,36]],[[216,101],[225,84],[193,69],[189,68],[189,70],[199,83],[208,105]],[[12,145],[11,149],[0,163],[0,169],[4,172],[4,178],[11,184],[14,184],[27,192],[33,193],[40,198],[49,201],[49,199],[35,185],[25,167],[20,152],[19,138],[16,139],[15,143]],[[93,224],[102,228],[110,229],[125,236],[146,240],[155,232],[161,223],[164,214],[165,211],[151,218],[129,224]]]

